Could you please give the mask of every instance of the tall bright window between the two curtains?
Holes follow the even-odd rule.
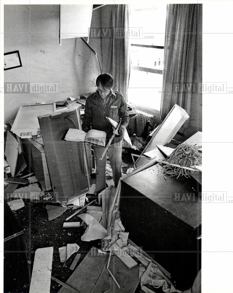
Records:
[[[131,41],[128,100],[159,110],[163,82],[166,4],[130,5],[130,27],[142,28],[142,38]]]

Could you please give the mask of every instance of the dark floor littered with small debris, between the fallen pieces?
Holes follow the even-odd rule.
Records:
[[[123,168],[123,173],[126,173],[129,167],[133,167],[130,149],[123,149],[122,160],[124,163],[129,165],[128,167]],[[91,177],[91,182],[95,183],[95,176],[92,175]],[[83,227],[63,228],[64,220],[69,215],[73,214],[74,210],[68,209],[57,219],[48,221],[45,206],[46,203],[35,203],[26,200],[25,207],[14,212],[24,229],[23,241],[25,243],[28,265],[30,271],[32,272],[35,250],[37,248],[53,246],[52,275],[60,281],[66,282],[73,272],[69,269],[69,267],[76,254],[73,254],[66,262],[61,263],[58,248],[65,246],[67,243],[77,243],[80,246],[79,253],[81,254],[78,262],[79,264],[92,246],[100,248],[100,240],[83,242],[81,241],[81,236],[84,233]],[[78,221],[78,219],[79,218],[77,216],[73,217],[74,222],[76,220]],[[19,282],[18,289],[16,288],[14,292],[28,292],[29,286],[29,280],[26,284],[25,281],[23,282],[22,280],[22,284]],[[58,292],[60,287],[61,285],[51,280],[50,292]],[[136,292],[139,291],[137,290]]]

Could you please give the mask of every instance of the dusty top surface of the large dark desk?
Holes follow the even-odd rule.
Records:
[[[201,223],[198,183],[193,178],[168,177],[157,164],[123,179],[123,182],[193,228]]]

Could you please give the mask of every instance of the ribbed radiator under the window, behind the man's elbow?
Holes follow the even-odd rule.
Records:
[[[127,131],[129,135],[136,134],[138,137],[142,136],[142,132],[146,126],[147,121],[150,121],[152,125],[155,124],[155,116],[153,114],[146,113],[141,110],[137,110],[137,116],[130,118],[129,125],[127,127]],[[153,129],[149,127],[147,131],[147,135]]]

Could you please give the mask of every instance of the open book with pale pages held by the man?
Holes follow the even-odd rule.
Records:
[[[105,147],[106,132],[91,129],[89,132],[83,130],[70,128],[65,136],[65,140],[72,142],[91,142],[98,144],[101,147]]]

